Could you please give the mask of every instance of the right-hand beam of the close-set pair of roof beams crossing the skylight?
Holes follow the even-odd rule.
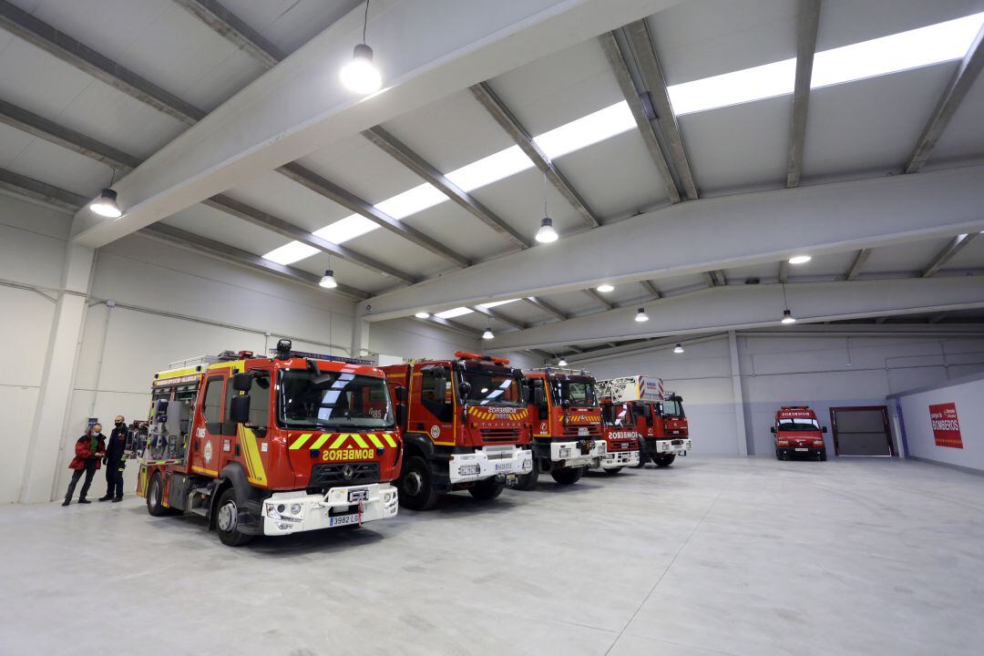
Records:
[[[677,125],[676,114],[673,113],[673,105],[666,90],[666,78],[656,56],[655,43],[649,33],[646,19],[630,23],[623,30],[632,45],[632,51],[636,54],[640,75],[648,88],[652,108],[656,112],[656,120],[659,121],[659,129],[669,146],[673,167],[683,185],[684,196],[688,200],[696,200],[701,195],[690,168],[687,149],[684,148],[683,138],[680,136],[680,127]]]

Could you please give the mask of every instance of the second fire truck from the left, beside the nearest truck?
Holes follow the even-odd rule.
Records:
[[[457,351],[382,369],[405,449],[400,505],[426,510],[456,490],[492,500],[530,470],[523,374],[509,360]]]

